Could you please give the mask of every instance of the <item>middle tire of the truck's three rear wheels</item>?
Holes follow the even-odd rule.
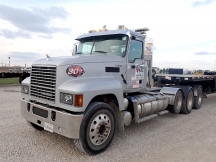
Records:
[[[190,114],[193,108],[194,94],[191,87],[188,87],[183,100],[183,106],[181,109],[182,114]]]

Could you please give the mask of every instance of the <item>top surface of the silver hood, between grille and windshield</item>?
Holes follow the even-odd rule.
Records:
[[[102,62],[122,62],[123,58],[115,55],[76,55],[65,57],[52,57],[49,59],[40,59],[33,62],[33,65],[71,65],[71,64],[83,64],[83,63],[102,63]]]

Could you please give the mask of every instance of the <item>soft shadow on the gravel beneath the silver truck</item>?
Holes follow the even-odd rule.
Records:
[[[160,129],[163,129],[163,126],[165,124],[164,122],[167,122],[167,120],[169,120],[170,123],[172,123],[172,120],[176,120],[176,118],[181,118],[181,115],[168,113],[164,116],[160,116],[158,118],[154,118],[140,124],[132,122],[130,126],[125,127],[125,133],[119,132],[118,130],[116,131],[115,137],[110,147],[108,147],[108,149],[101,154],[113,154],[119,152],[119,150],[124,149],[128,145],[136,147],[136,145],[139,145],[140,139],[148,141],[149,138],[154,138],[158,136],[158,130],[160,132]],[[47,131],[35,130],[35,132],[37,132],[36,136],[40,136],[47,140],[47,144],[45,146],[47,146],[48,148],[52,147],[52,150],[56,150],[56,152],[57,150],[60,151],[59,154],[62,154],[63,151],[64,154],[71,154],[73,155],[73,157],[82,156],[84,158],[88,156],[86,154],[81,153],[76,148],[73,139],[63,137],[61,135],[50,133]],[[40,139],[38,138],[37,140]],[[100,155],[96,155],[94,157]]]

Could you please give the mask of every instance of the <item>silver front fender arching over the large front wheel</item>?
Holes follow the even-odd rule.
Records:
[[[113,76],[70,80],[60,85],[58,90],[70,94],[83,94],[83,107],[78,108],[80,111],[85,111],[95,96],[103,94],[115,95],[119,103],[119,110],[124,110],[123,89],[119,80]]]

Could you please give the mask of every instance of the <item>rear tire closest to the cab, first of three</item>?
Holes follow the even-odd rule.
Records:
[[[174,113],[174,114],[178,114],[183,106],[183,95],[181,90],[178,90],[178,92],[175,95],[175,101],[174,101],[174,105],[169,105],[168,109],[170,112]]]

